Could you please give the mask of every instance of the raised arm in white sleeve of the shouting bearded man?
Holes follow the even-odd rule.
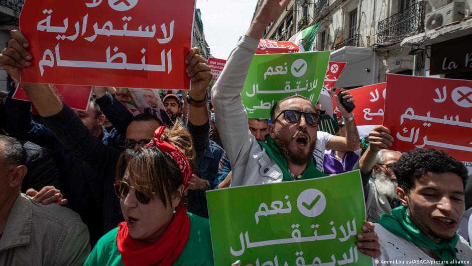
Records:
[[[248,115],[241,100],[241,91],[249,66],[264,30],[278,18],[290,0],[265,1],[245,36],[229,55],[212,94],[215,124],[233,170],[246,167],[249,151],[256,141],[248,126]],[[233,176],[232,185],[242,185],[242,176]]]

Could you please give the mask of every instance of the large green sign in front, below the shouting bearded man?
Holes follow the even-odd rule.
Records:
[[[366,220],[359,170],[206,198],[215,265],[373,265],[355,244]]]

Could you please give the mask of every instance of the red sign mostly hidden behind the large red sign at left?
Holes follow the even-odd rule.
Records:
[[[51,85],[60,95],[64,103],[72,109],[87,111],[92,95],[91,86]],[[13,94],[13,99],[31,102],[21,86]]]

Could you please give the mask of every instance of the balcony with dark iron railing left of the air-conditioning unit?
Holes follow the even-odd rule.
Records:
[[[418,2],[381,22],[377,28],[377,43],[395,42],[409,33],[424,31],[426,2]]]

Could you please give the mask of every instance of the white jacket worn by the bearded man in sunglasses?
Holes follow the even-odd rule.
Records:
[[[259,40],[243,36],[211,90],[215,124],[231,164],[231,187],[282,182],[279,166],[249,131],[241,100],[244,81]]]

